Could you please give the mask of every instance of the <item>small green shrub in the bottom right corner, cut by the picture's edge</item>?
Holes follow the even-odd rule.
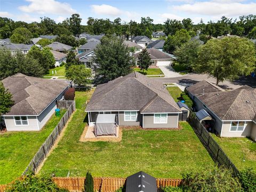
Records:
[[[256,171],[252,168],[240,171],[238,178],[245,191],[256,191]]]

